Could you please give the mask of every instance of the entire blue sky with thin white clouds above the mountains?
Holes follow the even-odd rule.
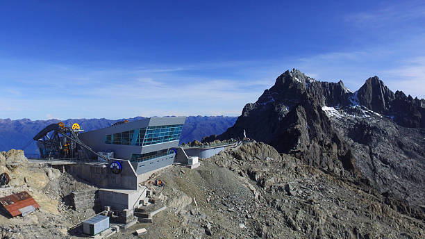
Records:
[[[286,69],[425,97],[424,1],[0,1],[0,118],[240,115]]]

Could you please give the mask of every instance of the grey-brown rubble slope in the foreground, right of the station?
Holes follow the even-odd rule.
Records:
[[[423,238],[423,220],[399,213],[389,195],[335,176],[261,142],[227,149],[195,170],[153,179],[167,210],[114,238]],[[176,201],[181,203],[176,204]],[[195,204],[196,201],[196,204]]]

